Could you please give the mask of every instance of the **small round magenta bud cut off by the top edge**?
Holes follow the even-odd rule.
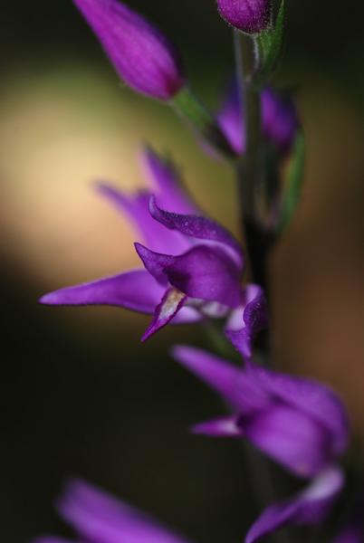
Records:
[[[244,33],[261,33],[271,19],[271,0],[217,0],[220,15]]]

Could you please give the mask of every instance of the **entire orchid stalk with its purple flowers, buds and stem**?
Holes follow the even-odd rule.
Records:
[[[145,148],[142,157],[149,182],[145,190],[127,195],[108,183],[97,185],[98,193],[133,224],[139,268],[53,291],[41,301],[55,306],[112,305],[146,313],[152,319],[142,340],[169,324],[203,321],[211,329],[214,321],[215,344],[224,334],[244,364],[237,367],[225,357],[196,348],[173,349],[177,362],[229,406],[228,415],[196,424],[193,432],[252,443],[303,481],[294,496],[275,500],[265,470],[269,466],[259,468],[252,492],[263,491],[270,503],[248,530],[245,543],[274,536],[283,527],[321,523],[344,485],[339,462],[349,443],[345,408],[328,387],[258,364],[262,357],[257,356],[256,345],[258,334],[269,324],[265,298],[269,252],[277,234],[292,220],[304,162],[304,138],[292,101],[263,86],[282,51],[284,4],[273,23],[271,0],[218,0],[220,14],[235,27],[237,85],[213,115],[189,90],[179,55],[154,25],[118,0],[74,3],[121,79],[139,93],[168,102],[204,139],[205,147],[207,142],[231,160],[237,170],[254,283],[243,284],[246,259],[241,244],[187,195],[177,167]],[[280,173],[287,159],[282,187]],[[269,343],[260,348],[267,366]],[[187,543],[81,481],[67,487],[58,510],[82,541]],[[357,519],[338,541],[346,541],[353,530],[360,538],[362,523]],[[65,543],[48,537],[37,541]]]

